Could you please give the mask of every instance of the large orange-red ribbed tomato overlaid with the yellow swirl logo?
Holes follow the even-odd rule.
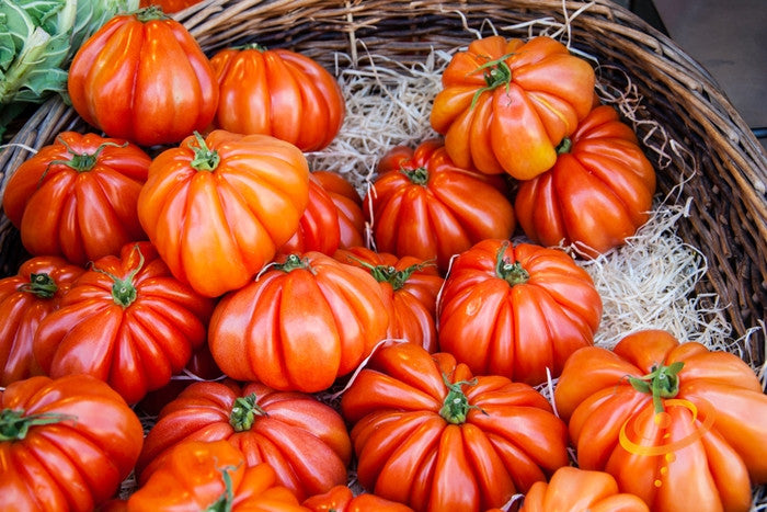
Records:
[[[735,354],[663,330],[575,352],[554,388],[579,466],[651,510],[749,510],[767,482],[767,395]]]

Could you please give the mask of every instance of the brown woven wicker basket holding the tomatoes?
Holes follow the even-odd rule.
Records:
[[[741,355],[765,364],[767,303],[767,160],[712,77],[668,37],[610,0],[398,1],[398,0],[206,0],[175,15],[214,52],[257,42],[304,53],[329,70],[337,54],[351,66],[369,55],[405,66],[433,49],[454,50],[492,31],[526,37],[541,27],[564,26],[574,50],[598,62],[598,81],[642,99],[636,129],[659,172],[659,193],[669,194],[684,177],[678,204],[688,215],[678,235],[708,261],[697,284],[702,297],[726,305],[726,321]],[[386,77],[380,77],[386,80]],[[643,120],[659,123],[664,138]],[[50,144],[62,129],[88,127],[60,100],[42,105],[0,153],[0,196],[27,148]],[[678,146],[657,155],[671,138]],[[0,272],[14,273],[25,258],[18,231],[0,217]]]

